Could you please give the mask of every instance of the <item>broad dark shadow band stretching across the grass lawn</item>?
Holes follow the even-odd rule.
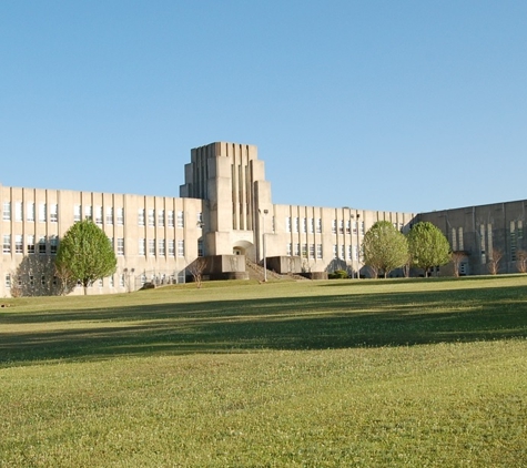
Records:
[[[176,301],[176,295],[174,295]],[[525,287],[2,313],[0,365],[527,337]]]

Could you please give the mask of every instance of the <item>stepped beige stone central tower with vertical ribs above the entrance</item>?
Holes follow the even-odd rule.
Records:
[[[206,201],[207,255],[242,252],[252,261],[262,257],[260,218],[272,211],[272,204],[271,184],[256,146],[216,142],[193,149],[180,196]]]

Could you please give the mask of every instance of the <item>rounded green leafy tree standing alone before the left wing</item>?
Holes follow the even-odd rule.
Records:
[[[70,272],[84,286],[115,273],[115,253],[107,234],[93,221],[84,220],[73,224],[59,244],[55,268]]]

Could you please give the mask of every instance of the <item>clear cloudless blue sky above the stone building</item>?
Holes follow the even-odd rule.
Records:
[[[274,203],[527,199],[527,1],[0,2],[3,185],[179,196],[214,141]]]

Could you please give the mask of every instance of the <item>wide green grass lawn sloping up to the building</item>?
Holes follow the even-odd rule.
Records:
[[[3,299],[3,467],[527,466],[527,276]]]

